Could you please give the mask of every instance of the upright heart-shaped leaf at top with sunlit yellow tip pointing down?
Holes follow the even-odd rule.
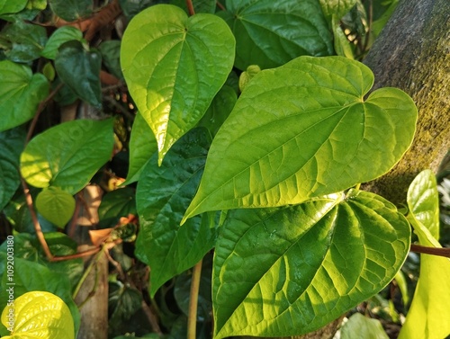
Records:
[[[123,34],[121,67],[157,138],[158,163],[202,118],[233,66],[235,40],[213,14],[188,17],[171,4],[136,15]]]

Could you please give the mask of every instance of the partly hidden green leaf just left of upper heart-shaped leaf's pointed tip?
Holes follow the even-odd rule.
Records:
[[[128,169],[127,180],[123,184],[137,182],[142,169],[155,153],[157,153],[157,139],[147,121],[138,112],[131,129],[130,168]]]

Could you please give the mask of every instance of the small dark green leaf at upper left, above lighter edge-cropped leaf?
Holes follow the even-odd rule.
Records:
[[[6,57],[15,62],[31,62],[40,58],[40,52],[47,42],[44,27],[16,21],[2,31],[2,36],[11,41],[12,49],[5,52]]]

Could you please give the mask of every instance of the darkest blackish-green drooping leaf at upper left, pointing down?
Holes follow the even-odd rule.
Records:
[[[63,43],[58,50],[55,58],[58,76],[85,102],[101,108],[100,53],[87,51],[81,42],[74,40]]]

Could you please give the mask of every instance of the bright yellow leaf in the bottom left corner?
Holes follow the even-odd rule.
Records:
[[[14,315],[14,320],[10,315]],[[2,324],[12,329],[5,339],[75,338],[74,320],[67,305],[58,296],[44,291],[28,292],[15,299],[4,308]]]

